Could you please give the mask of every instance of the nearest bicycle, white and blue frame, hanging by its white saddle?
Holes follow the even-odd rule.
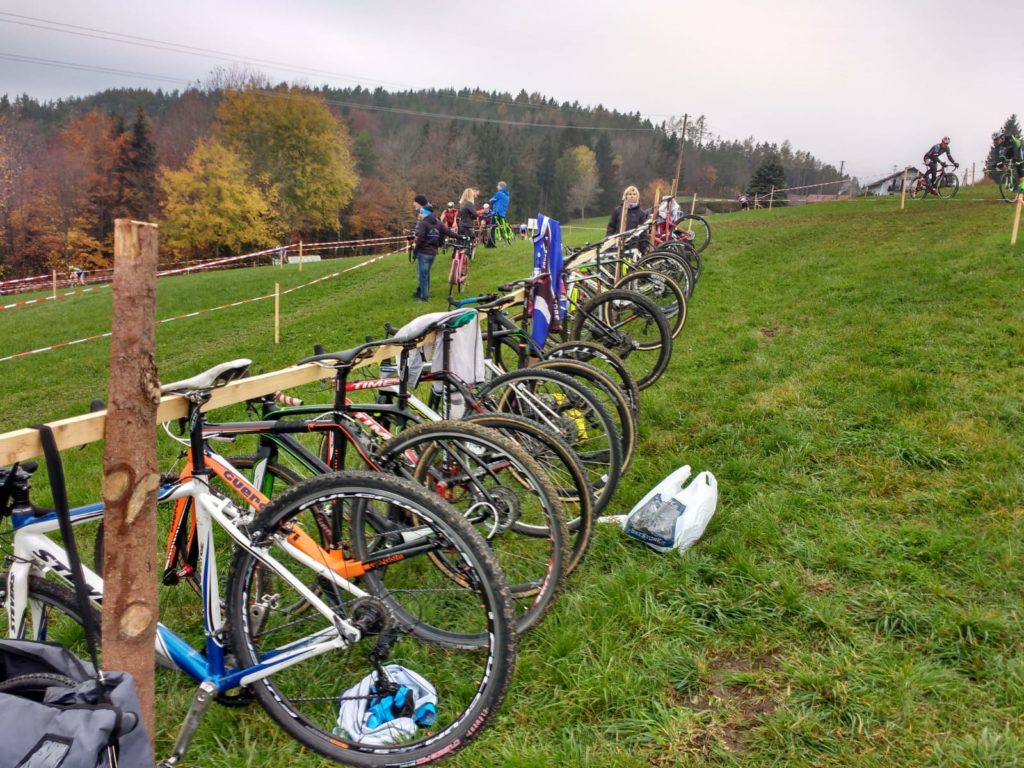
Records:
[[[240,690],[338,763],[407,765],[461,749],[498,709],[515,660],[511,594],[493,553],[449,505],[397,477],[334,473],[266,499],[203,434],[202,404],[246,368],[236,360],[163,388],[189,402],[188,466],[161,496],[191,502],[205,648],[158,628],[162,660],[200,683],[161,766],[179,765],[210,702]],[[55,515],[31,504],[27,469],[0,470],[0,514],[14,529],[0,580],[8,634],[59,639],[81,616],[74,593],[45,579],[67,582],[68,558],[47,536]],[[344,522],[344,546],[306,532],[314,512]],[[101,508],[71,514],[81,524]],[[223,594],[215,529],[234,545]],[[85,579],[98,604],[102,580],[91,570]],[[433,693],[408,682],[417,670]]]

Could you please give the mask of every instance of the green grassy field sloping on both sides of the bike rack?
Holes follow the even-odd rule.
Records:
[[[712,219],[665,377],[642,395],[625,512],[680,464],[719,511],[683,556],[601,526],[520,642],[476,766],[1024,765],[1024,243],[990,187],[954,201],[822,203]],[[988,200],[983,197],[989,198]],[[590,226],[600,226],[598,220]],[[599,237],[577,229],[570,241]],[[158,317],[347,262],[167,279]],[[471,287],[529,269],[483,251]],[[442,307],[446,263],[434,267]],[[403,255],[272,303],[162,325],[161,380],[346,347],[418,306]],[[109,330],[99,292],[0,314],[0,356]],[[0,364],[0,429],[103,396],[108,344]],[[99,450],[68,452],[86,501]],[[91,473],[91,474],[90,474]],[[161,673],[166,753],[190,685]],[[213,709],[189,765],[318,766],[255,709]]]

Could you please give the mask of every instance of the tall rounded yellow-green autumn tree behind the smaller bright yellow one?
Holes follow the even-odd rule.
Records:
[[[216,133],[252,183],[276,189],[283,232],[338,228],[357,178],[348,130],[322,96],[299,88],[229,91]]]

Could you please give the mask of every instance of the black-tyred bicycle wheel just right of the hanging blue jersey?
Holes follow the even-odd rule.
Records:
[[[622,357],[641,389],[660,378],[672,357],[668,321],[656,304],[633,291],[616,288],[587,302],[572,319],[571,334]]]

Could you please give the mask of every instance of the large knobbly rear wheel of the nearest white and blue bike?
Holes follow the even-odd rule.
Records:
[[[261,571],[269,567],[271,546],[284,545],[314,506],[342,510],[353,550],[356,543],[361,548],[368,571],[360,581],[369,594],[353,599],[333,579],[278,551],[282,566],[269,568],[272,587],[266,587]],[[239,664],[264,668],[281,654],[335,639],[333,650],[247,681],[290,736],[330,760],[376,768],[430,762],[480,732],[505,695],[515,631],[508,588],[472,526],[436,496],[399,478],[341,472],[285,492],[253,529],[262,538],[236,551],[227,584]],[[428,554],[444,559],[461,580]],[[301,602],[294,584],[313,582],[327,583],[331,615],[312,605],[299,615],[279,610]],[[343,639],[342,620],[358,628],[358,639]],[[460,645],[469,649],[453,651]],[[411,699],[416,688],[403,682],[402,691],[397,684],[402,671],[407,680],[410,672],[422,676],[435,700],[422,686]],[[373,725],[376,731],[367,733]]]

